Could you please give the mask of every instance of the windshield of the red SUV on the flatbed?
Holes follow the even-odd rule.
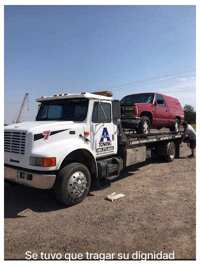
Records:
[[[154,93],[140,93],[132,94],[123,97],[120,103],[133,103],[133,102],[143,102],[143,103],[153,103]]]

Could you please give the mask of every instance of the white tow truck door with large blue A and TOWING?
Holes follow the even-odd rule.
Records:
[[[111,101],[94,100],[90,128],[90,147],[96,158],[117,153],[117,126],[111,120]]]

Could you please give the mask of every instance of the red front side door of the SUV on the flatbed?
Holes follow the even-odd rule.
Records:
[[[162,104],[157,103],[157,100],[163,100],[163,103]],[[161,94],[156,94],[154,105],[155,105],[154,119],[156,121],[156,124],[158,125],[160,124],[160,126],[167,125],[169,119],[169,112]]]

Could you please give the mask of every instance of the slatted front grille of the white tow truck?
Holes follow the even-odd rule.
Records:
[[[4,152],[24,154],[25,137],[24,132],[4,131]]]

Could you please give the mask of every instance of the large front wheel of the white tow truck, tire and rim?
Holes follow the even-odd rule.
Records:
[[[80,163],[71,163],[62,168],[55,179],[56,198],[63,204],[73,206],[86,197],[91,179],[87,167]]]

